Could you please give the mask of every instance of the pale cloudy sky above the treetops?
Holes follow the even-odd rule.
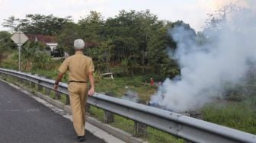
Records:
[[[243,1],[250,0],[0,0],[0,24],[10,16],[24,18],[25,14],[72,16],[76,22],[89,11],[101,12],[106,19],[114,17],[123,9],[149,9],[159,20],[182,20],[198,31],[202,30],[208,13],[213,13],[229,2]],[[0,30],[6,29],[0,26]]]

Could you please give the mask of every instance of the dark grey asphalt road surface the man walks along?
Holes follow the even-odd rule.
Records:
[[[86,141],[104,142],[85,131]],[[0,142],[72,143],[72,122],[14,87],[0,81]]]

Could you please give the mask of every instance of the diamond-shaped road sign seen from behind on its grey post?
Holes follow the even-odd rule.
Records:
[[[14,41],[18,45],[19,50],[19,71],[21,71],[21,46],[28,40],[27,36],[21,32],[21,30],[18,30],[18,32],[14,33],[11,37],[11,40]]]

